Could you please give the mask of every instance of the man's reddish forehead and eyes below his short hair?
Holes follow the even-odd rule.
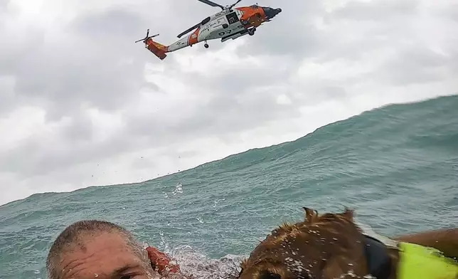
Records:
[[[63,279],[151,279],[159,278],[149,263],[132,251],[118,233],[83,236],[84,247],[63,254]]]

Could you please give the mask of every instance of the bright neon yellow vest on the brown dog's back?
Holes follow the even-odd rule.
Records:
[[[435,248],[400,242],[399,279],[458,279],[458,262]]]

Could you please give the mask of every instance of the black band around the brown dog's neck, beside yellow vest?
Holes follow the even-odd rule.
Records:
[[[391,273],[391,258],[385,244],[371,236],[364,236],[363,244],[371,275],[377,279],[388,279]]]

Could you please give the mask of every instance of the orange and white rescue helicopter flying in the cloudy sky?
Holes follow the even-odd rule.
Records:
[[[159,34],[149,36],[149,29],[147,30],[147,36],[135,41],[135,43],[142,41],[145,44],[145,48],[154,53],[159,59],[164,60],[167,56],[166,53],[178,51],[196,43],[205,42],[203,46],[208,48],[207,41],[210,40],[220,38],[221,42],[224,42],[247,34],[253,36],[257,27],[264,22],[271,21],[277,14],[282,12],[282,9],[272,9],[270,7],[257,6],[257,4],[234,8],[242,0],[227,6],[216,4],[210,0],[198,1],[209,6],[219,7],[221,11],[208,16],[203,21],[180,33],[178,35],[179,41],[172,43],[170,46],[164,46],[153,41],[153,38],[159,36]],[[191,31],[192,33],[190,33]],[[183,37],[188,33],[190,33],[188,36]]]

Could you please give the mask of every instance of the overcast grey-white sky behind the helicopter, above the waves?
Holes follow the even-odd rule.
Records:
[[[169,44],[219,9],[1,1],[0,204],[152,179],[390,102],[458,92],[454,0],[258,4],[283,11],[255,36],[161,61],[134,43],[147,28]]]

